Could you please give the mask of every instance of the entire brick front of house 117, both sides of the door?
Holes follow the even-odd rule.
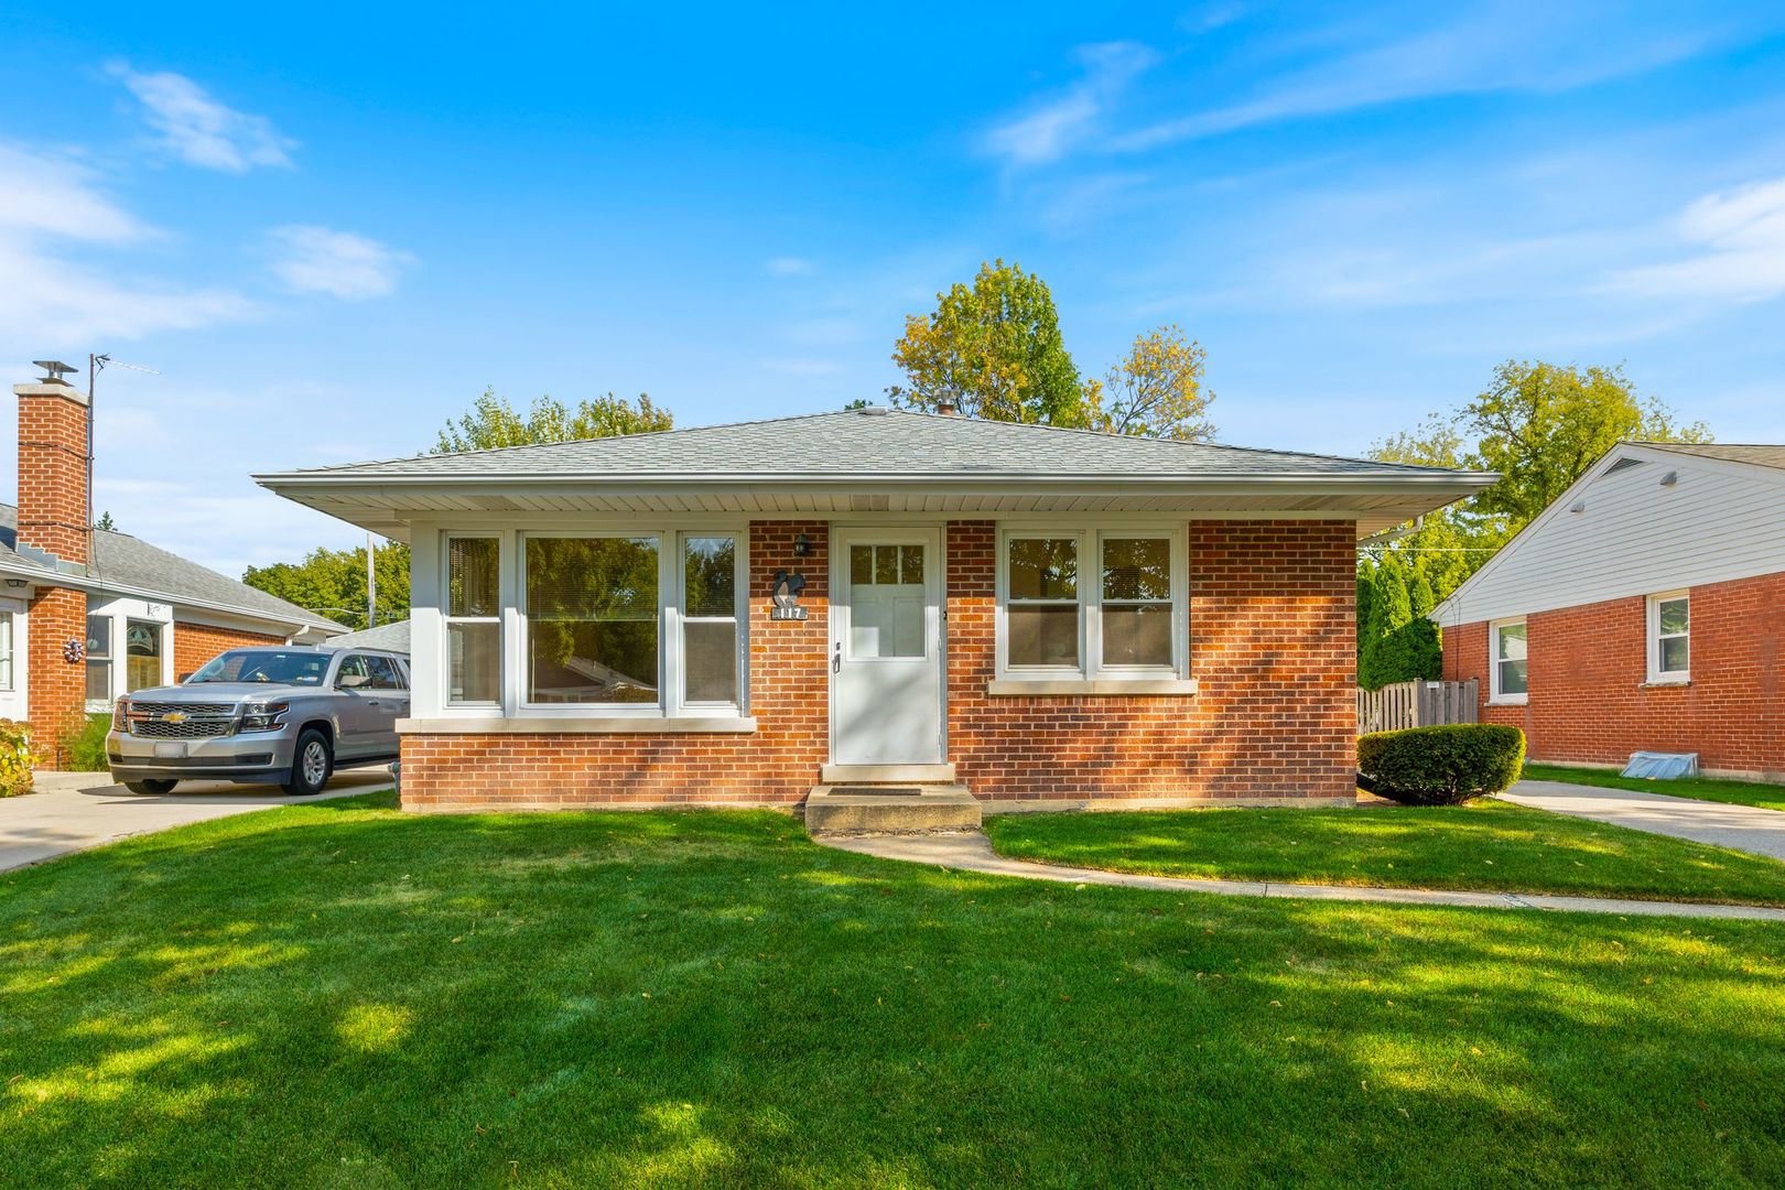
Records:
[[[812,555],[794,558],[803,532]],[[828,526],[750,526],[753,735],[405,735],[412,810],[791,805],[828,758]],[[994,801],[1349,799],[1349,521],[1189,526],[1189,698],[989,698],[994,526],[948,526],[950,758]],[[810,619],[769,621],[780,567]]]

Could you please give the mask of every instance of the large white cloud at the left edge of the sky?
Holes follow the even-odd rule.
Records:
[[[0,335],[25,353],[139,339],[246,318],[252,303],[227,289],[191,289],[100,271],[80,244],[159,236],[105,196],[89,169],[66,157],[0,146]]]

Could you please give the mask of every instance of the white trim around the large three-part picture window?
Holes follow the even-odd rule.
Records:
[[[452,673],[446,653],[446,567],[450,553],[446,542],[453,537],[494,537],[498,541],[498,589],[500,589],[500,703],[448,703]],[[527,541],[530,537],[655,537],[657,539],[657,682],[659,701],[648,705],[632,703],[528,703],[527,701]],[[682,542],[689,537],[732,537],[737,541],[735,566],[737,578],[735,617],[737,617],[737,701],[735,703],[689,703],[682,692],[682,605],[687,574],[682,566]],[[564,528],[557,525],[539,528],[477,528],[453,526],[437,530],[439,558],[436,571],[436,630],[434,640],[434,705],[427,712],[437,715],[428,723],[448,721],[491,723],[498,719],[536,719],[553,721],[560,730],[568,723],[589,723],[600,730],[618,730],[627,723],[637,723],[639,730],[652,730],[653,723],[666,721],[725,721],[728,724],[748,724],[750,715],[750,526],[737,521],[671,521],[671,523],[614,523],[602,521]],[[452,617],[464,623],[468,617]],[[489,619],[489,617],[469,617]],[[698,619],[698,617],[696,617]],[[721,724],[714,724],[721,726]]]

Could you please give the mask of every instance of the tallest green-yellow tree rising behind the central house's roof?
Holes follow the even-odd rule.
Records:
[[[894,405],[948,401],[969,417],[1091,426],[1098,384],[1087,387],[1060,339],[1048,284],[1017,264],[982,264],[971,285],[939,293],[934,314],[905,319],[892,362],[905,384]]]

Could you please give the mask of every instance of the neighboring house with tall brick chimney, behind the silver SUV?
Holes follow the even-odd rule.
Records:
[[[346,632],[130,533],[93,528],[87,394],[55,373],[12,394],[18,505],[0,505],[0,717],[30,721],[50,765],[84,712],[120,694],[239,644]]]

